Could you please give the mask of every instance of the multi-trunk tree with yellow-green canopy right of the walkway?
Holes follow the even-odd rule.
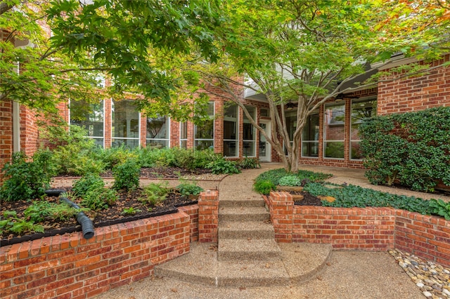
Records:
[[[422,34],[413,30],[424,20],[428,22],[425,11],[412,9],[416,6],[409,1],[378,2],[229,3],[230,21],[220,32],[226,53],[219,65],[200,67],[200,72],[207,86],[227,92],[228,99],[243,109],[269,140],[286,170],[298,169],[302,129],[314,110],[340,93],[351,92],[354,88],[344,86],[368,72],[371,62],[386,60],[399,51],[411,55],[414,50],[417,55],[424,45],[437,41],[436,27],[424,29]],[[397,16],[400,14],[403,20],[394,18],[387,6],[397,9]],[[427,15],[442,13],[442,6],[433,7],[435,11],[427,11]],[[385,42],[387,33],[397,36]],[[414,39],[416,46],[411,46],[409,39]],[[424,72],[424,67],[411,67],[409,72]],[[235,79],[238,74],[245,76],[244,82]],[[375,84],[376,80],[360,82],[357,88]],[[234,92],[236,85],[265,96],[270,107],[271,136],[248,114],[243,98]],[[285,123],[285,104],[291,101],[297,117],[292,136]]]

